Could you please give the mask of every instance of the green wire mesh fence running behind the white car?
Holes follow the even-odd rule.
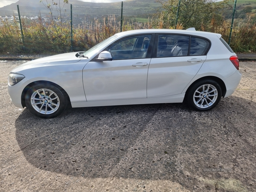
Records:
[[[116,4],[116,7],[71,5],[70,9],[65,10],[20,6],[20,18],[16,10],[0,10],[0,27],[15,26],[13,30],[16,30],[18,34],[21,34],[21,27],[23,27],[23,47],[30,51],[41,52],[44,44],[48,47],[52,45],[49,49],[56,52],[69,51],[70,47],[71,50],[89,49],[94,44],[120,31],[164,28],[164,22],[168,23],[167,28],[176,28],[177,24],[179,26],[180,18],[186,15],[185,10],[182,9],[176,15],[177,7],[173,7],[176,11],[172,17],[163,17],[160,13],[163,7],[156,4],[122,2]],[[157,13],[160,14],[157,15]],[[249,36],[244,35],[248,41],[252,41],[256,36],[256,2],[236,3],[236,9],[234,9],[234,3],[224,4],[207,18],[192,16],[189,20],[191,23],[194,20],[194,24],[188,27],[194,27],[199,23],[197,29],[221,33],[223,38],[233,46],[236,45],[236,38],[241,33],[252,33]],[[20,26],[20,21],[22,26]],[[181,23],[180,26],[185,28],[186,25]],[[3,39],[1,40],[4,38],[3,34],[5,33],[3,32],[2,35],[0,33],[0,43],[4,42]],[[17,42],[17,44],[22,43],[20,40]],[[42,49],[38,48],[38,43],[35,45],[36,42],[41,42]],[[3,47],[0,46],[0,49]]]

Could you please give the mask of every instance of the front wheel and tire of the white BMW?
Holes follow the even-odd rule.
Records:
[[[52,84],[40,83],[29,88],[25,96],[26,107],[41,118],[54,118],[67,107],[67,97]]]

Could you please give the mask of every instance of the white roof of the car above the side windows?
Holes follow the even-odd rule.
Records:
[[[217,36],[221,38],[221,34],[212,33],[212,32],[203,32],[203,31],[194,31],[194,30],[183,30],[183,29],[137,29],[125,32],[116,33],[119,37],[126,36],[126,35],[136,35],[142,33],[175,33],[175,34],[185,34],[185,35],[196,35],[196,36]]]

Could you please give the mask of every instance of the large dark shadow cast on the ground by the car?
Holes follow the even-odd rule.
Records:
[[[15,126],[24,156],[43,170],[243,192],[256,189],[255,114],[255,102],[230,96],[207,112],[183,104],[127,105],[39,119],[25,109]]]

